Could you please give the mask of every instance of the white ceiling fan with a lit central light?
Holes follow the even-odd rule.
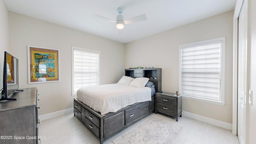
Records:
[[[134,18],[130,18],[128,20],[124,20],[124,17],[122,16],[122,13],[123,13],[122,8],[117,8],[117,12],[118,12],[118,15],[116,16],[116,21],[115,20],[111,20],[109,18],[105,18],[103,16],[99,16],[97,14],[92,14],[92,16],[95,16],[97,18],[102,18],[102,19],[108,20],[110,22],[115,22],[116,23],[116,28],[118,28],[118,29],[123,29],[124,28],[124,24],[130,24],[132,22],[140,22],[140,21],[147,20],[146,14],[142,14],[140,16],[136,16]]]

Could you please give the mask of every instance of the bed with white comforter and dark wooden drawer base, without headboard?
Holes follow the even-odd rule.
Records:
[[[154,82],[148,81],[147,78],[143,87],[136,87],[124,84],[127,81],[122,81],[122,78],[116,84],[80,88],[77,98],[74,98],[74,116],[100,140],[100,144],[154,112]],[[85,96],[88,94],[91,95],[89,98]]]

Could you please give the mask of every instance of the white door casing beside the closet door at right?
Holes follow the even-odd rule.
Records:
[[[237,135],[237,102],[238,102],[238,16],[246,0],[236,0],[233,17],[233,116],[232,134]],[[246,89],[247,90],[247,89]],[[246,132],[246,131],[244,131]],[[245,141],[244,141],[245,142]]]

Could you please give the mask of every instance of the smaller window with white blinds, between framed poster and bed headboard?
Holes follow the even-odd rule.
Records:
[[[83,86],[99,84],[99,55],[99,51],[72,46],[72,96]]]

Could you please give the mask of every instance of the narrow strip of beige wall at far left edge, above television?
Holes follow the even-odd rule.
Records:
[[[0,0],[0,89],[3,87],[4,51],[9,49],[8,10]]]

